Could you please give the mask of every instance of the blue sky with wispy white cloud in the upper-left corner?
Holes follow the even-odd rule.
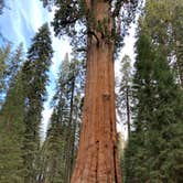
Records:
[[[46,10],[37,0],[7,0],[6,3],[4,13],[0,17],[0,31],[14,44],[23,42],[25,47],[29,46],[37,28],[50,20]]]

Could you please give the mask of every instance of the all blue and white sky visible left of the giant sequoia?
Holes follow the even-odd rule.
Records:
[[[7,8],[4,9],[3,14],[0,15],[0,32],[7,40],[12,42],[14,46],[23,43],[24,51],[26,52],[31,44],[31,39],[36,33],[37,29],[44,22],[51,22],[54,17],[54,12],[47,12],[47,10],[42,7],[42,2],[40,0],[7,0],[6,3]],[[49,103],[54,94],[53,90],[55,87],[58,66],[66,52],[71,53],[68,41],[56,39],[52,29],[51,31],[54,57],[52,60],[53,64],[50,71],[51,83],[47,87],[49,101],[45,103],[43,111],[43,136],[46,131],[47,122],[52,114]]]

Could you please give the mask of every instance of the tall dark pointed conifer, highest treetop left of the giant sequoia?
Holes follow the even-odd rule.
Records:
[[[47,23],[42,25],[32,40],[28,61],[23,65],[24,89],[24,182],[33,183],[37,176],[37,153],[40,148],[40,125],[43,103],[46,99],[49,67],[53,55],[51,33]]]

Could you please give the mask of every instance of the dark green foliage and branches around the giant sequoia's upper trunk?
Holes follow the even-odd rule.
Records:
[[[55,17],[52,25],[55,35],[68,35],[72,37],[72,44],[77,47],[87,45],[87,36],[97,37],[97,33],[101,34],[108,43],[114,42],[116,49],[122,45],[123,36],[127,34],[128,26],[134,20],[138,4],[141,0],[112,0],[107,1],[111,10],[111,15],[104,20],[96,20],[95,8],[96,2],[85,0],[41,0],[44,7],[55,6]],[[88,3],[88,4],[87,4]],[[122,20],[122,21],[121,21]],[[112,23],[111,30],[109,24]],[[79,49],[80,50],[80,49]]]

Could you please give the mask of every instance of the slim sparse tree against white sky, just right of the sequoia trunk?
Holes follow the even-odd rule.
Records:
[[[120,82],[117,82],[117,94],[116,94],[116,104],[117,104],[117,114],[119,118],[119,122],[127,127],[128,138],[130,138],[131,133],[131,117],[132,117],[132,71],[131,71],[131,60],[128,55],[125,55],[121,61],[120,68]],[[119,157],[120,157],[120,165],[122,170],[122,180],[126,181],[126,163],[130,166],[129,154],[126,153],[125,158],[125,149],[127,142],[123,139],[121,133],[119,133]]]

